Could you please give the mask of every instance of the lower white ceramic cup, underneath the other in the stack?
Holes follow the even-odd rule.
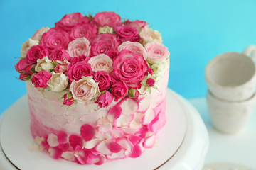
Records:
[[[207,103],[213,126],[220,132],[235,133],[244,127],[255,110],[256,94],[245,101],[225,101],[208,91]]]

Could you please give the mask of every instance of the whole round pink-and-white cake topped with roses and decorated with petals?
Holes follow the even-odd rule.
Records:
[[[31,149],[54,159],[136,158],[166,123],[169,51],[145,21],[67,14],[22,44],[15,68],[26,81]]]

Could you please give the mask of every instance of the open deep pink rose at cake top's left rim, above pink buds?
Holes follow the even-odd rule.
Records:
[[[29,64],[35,64],[38,59],[49,56],[45,45],[33,45],[27,52],[26,59]]]

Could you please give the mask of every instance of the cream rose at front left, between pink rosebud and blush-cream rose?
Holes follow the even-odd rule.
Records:
[[[47,85],[52,91],[63,91],[68,86],[68,77],[63,73],[52,72],[52,77],[50,77]]]

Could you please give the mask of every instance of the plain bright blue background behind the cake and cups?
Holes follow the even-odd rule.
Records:
[[[185,98],[206,94],[206,64],[223,52],[256,44],[255,0],[7,1],[0,0],[0,113],[26,94],[14,64],[21,43],[65,13],[115,11],[150,23],[171,52],[169,88]]]

